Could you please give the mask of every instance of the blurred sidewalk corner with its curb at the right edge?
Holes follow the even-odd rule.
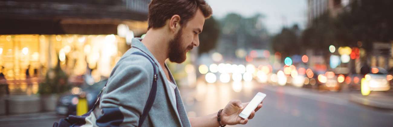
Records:
[[[393,110],[393,90],[386,92],[374,91],[368,96],[362,96],[360,93],[351,94],[349,101],[369,107]]]

